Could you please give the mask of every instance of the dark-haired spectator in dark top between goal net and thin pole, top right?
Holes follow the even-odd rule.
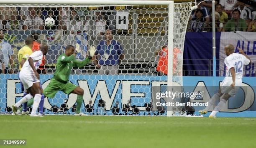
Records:
[[[205,32],[207,30],[206,24],[203,19],[203,11],[197,9],[195,12],[195,18],[189,20],[187,31],[188,32]]]

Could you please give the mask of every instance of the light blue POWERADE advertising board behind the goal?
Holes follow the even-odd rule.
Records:
[[[43,88],[46,88],[53,75],[41,75],[41,83]],[[130,79],[133,79],[131,81]],[[208,97],[203,97],[201,100],[190,99],[191,102],[207,102],[207,99],[218,91],[220,82],[224,77],[210,77],[210,76],[184,76],[184,86],[192,86],[192,91],[198,92],[198,86],[206,86]],[[136,115],[145,115],[145,103],[150,103],[152,98],[152,87],[167,84],[166,76],[107,76],[107,75],[72,75],[70,80],[72,83],[79,85],[84,89],[84,104],[89,104],[92,101],[92,114],[99,114],[98,102],[100,99],[105,101],[104,114],[113,115],[111,109],[116,102],[119,102],[118,107],[122,110],[123,104],[128,100],[131,101],[131,106],[136,105],[139,113]],[[221,116],[256,116],[256,81],[255,77],[244,77],[243,88],[233,99],[227,103],[225,113],[220,113]],[[23,95],[20,88],[20,80],[17,74],[0,74],[0,108],[1,113],[8,113],[6,108],[11,106],[21,99]],[[214,90],[209,89],[211,86],[216,86]],[[58,114],[73,114],[72,106],[75,104],[76,95],[66,95],[59,91],[55,98],[45,98],[44,108],[45,113],[54,114],[52,106],[58,107],[67,100],[68,110],[66,112],[58,110]],[[82,105],[82,111],[85,108]],[[154,106],[154,104],[153,104]],[[195,106],[195,110],[203,109],[203,106]],[[227,113],[230,112],[230,113]],[[253,114],[254,113],[254,114]],[[122,111],[119,111],[122,115]],[[151,111],[151,115],[156,115],[157,111]],[[166,113],[162,113],[166,115]]]

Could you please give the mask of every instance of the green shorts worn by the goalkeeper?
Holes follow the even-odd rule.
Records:
[[[70,94],[77,86],[70,82],[62,83],[56,79],[51,79],[49,85],[44,89],[44,96],[54,98],[58,91],[63,91],[65,94]]]

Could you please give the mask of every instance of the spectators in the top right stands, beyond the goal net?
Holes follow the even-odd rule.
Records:
[[[212,3],[202,2],[190,16],[187,31],[212,31]],[[215,31],[256,32],[256,7],[237,0],[215,2]]]

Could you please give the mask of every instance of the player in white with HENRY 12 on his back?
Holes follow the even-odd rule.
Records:
[[[251,63],[251,59],[243,52],[241,48],[238,47],[239,53],[234,53],[234,46],[228,44],[224,50],[225,54],[228,56],[225,58],[226,65],[226,77],[224,78],[220,90],[218,93],[212,96],[212,99],[208,102],[208,106],[205,109],[199,111],[201,114],[207,113],[211,106],[220,99],[218,105],[213,109],[209,117],[215,117],[216,113],[220,111],[224,106],[226,101],[231,97],[235,96],[236,92],[242,85],[243,77],[243,65],[248,65]]]

